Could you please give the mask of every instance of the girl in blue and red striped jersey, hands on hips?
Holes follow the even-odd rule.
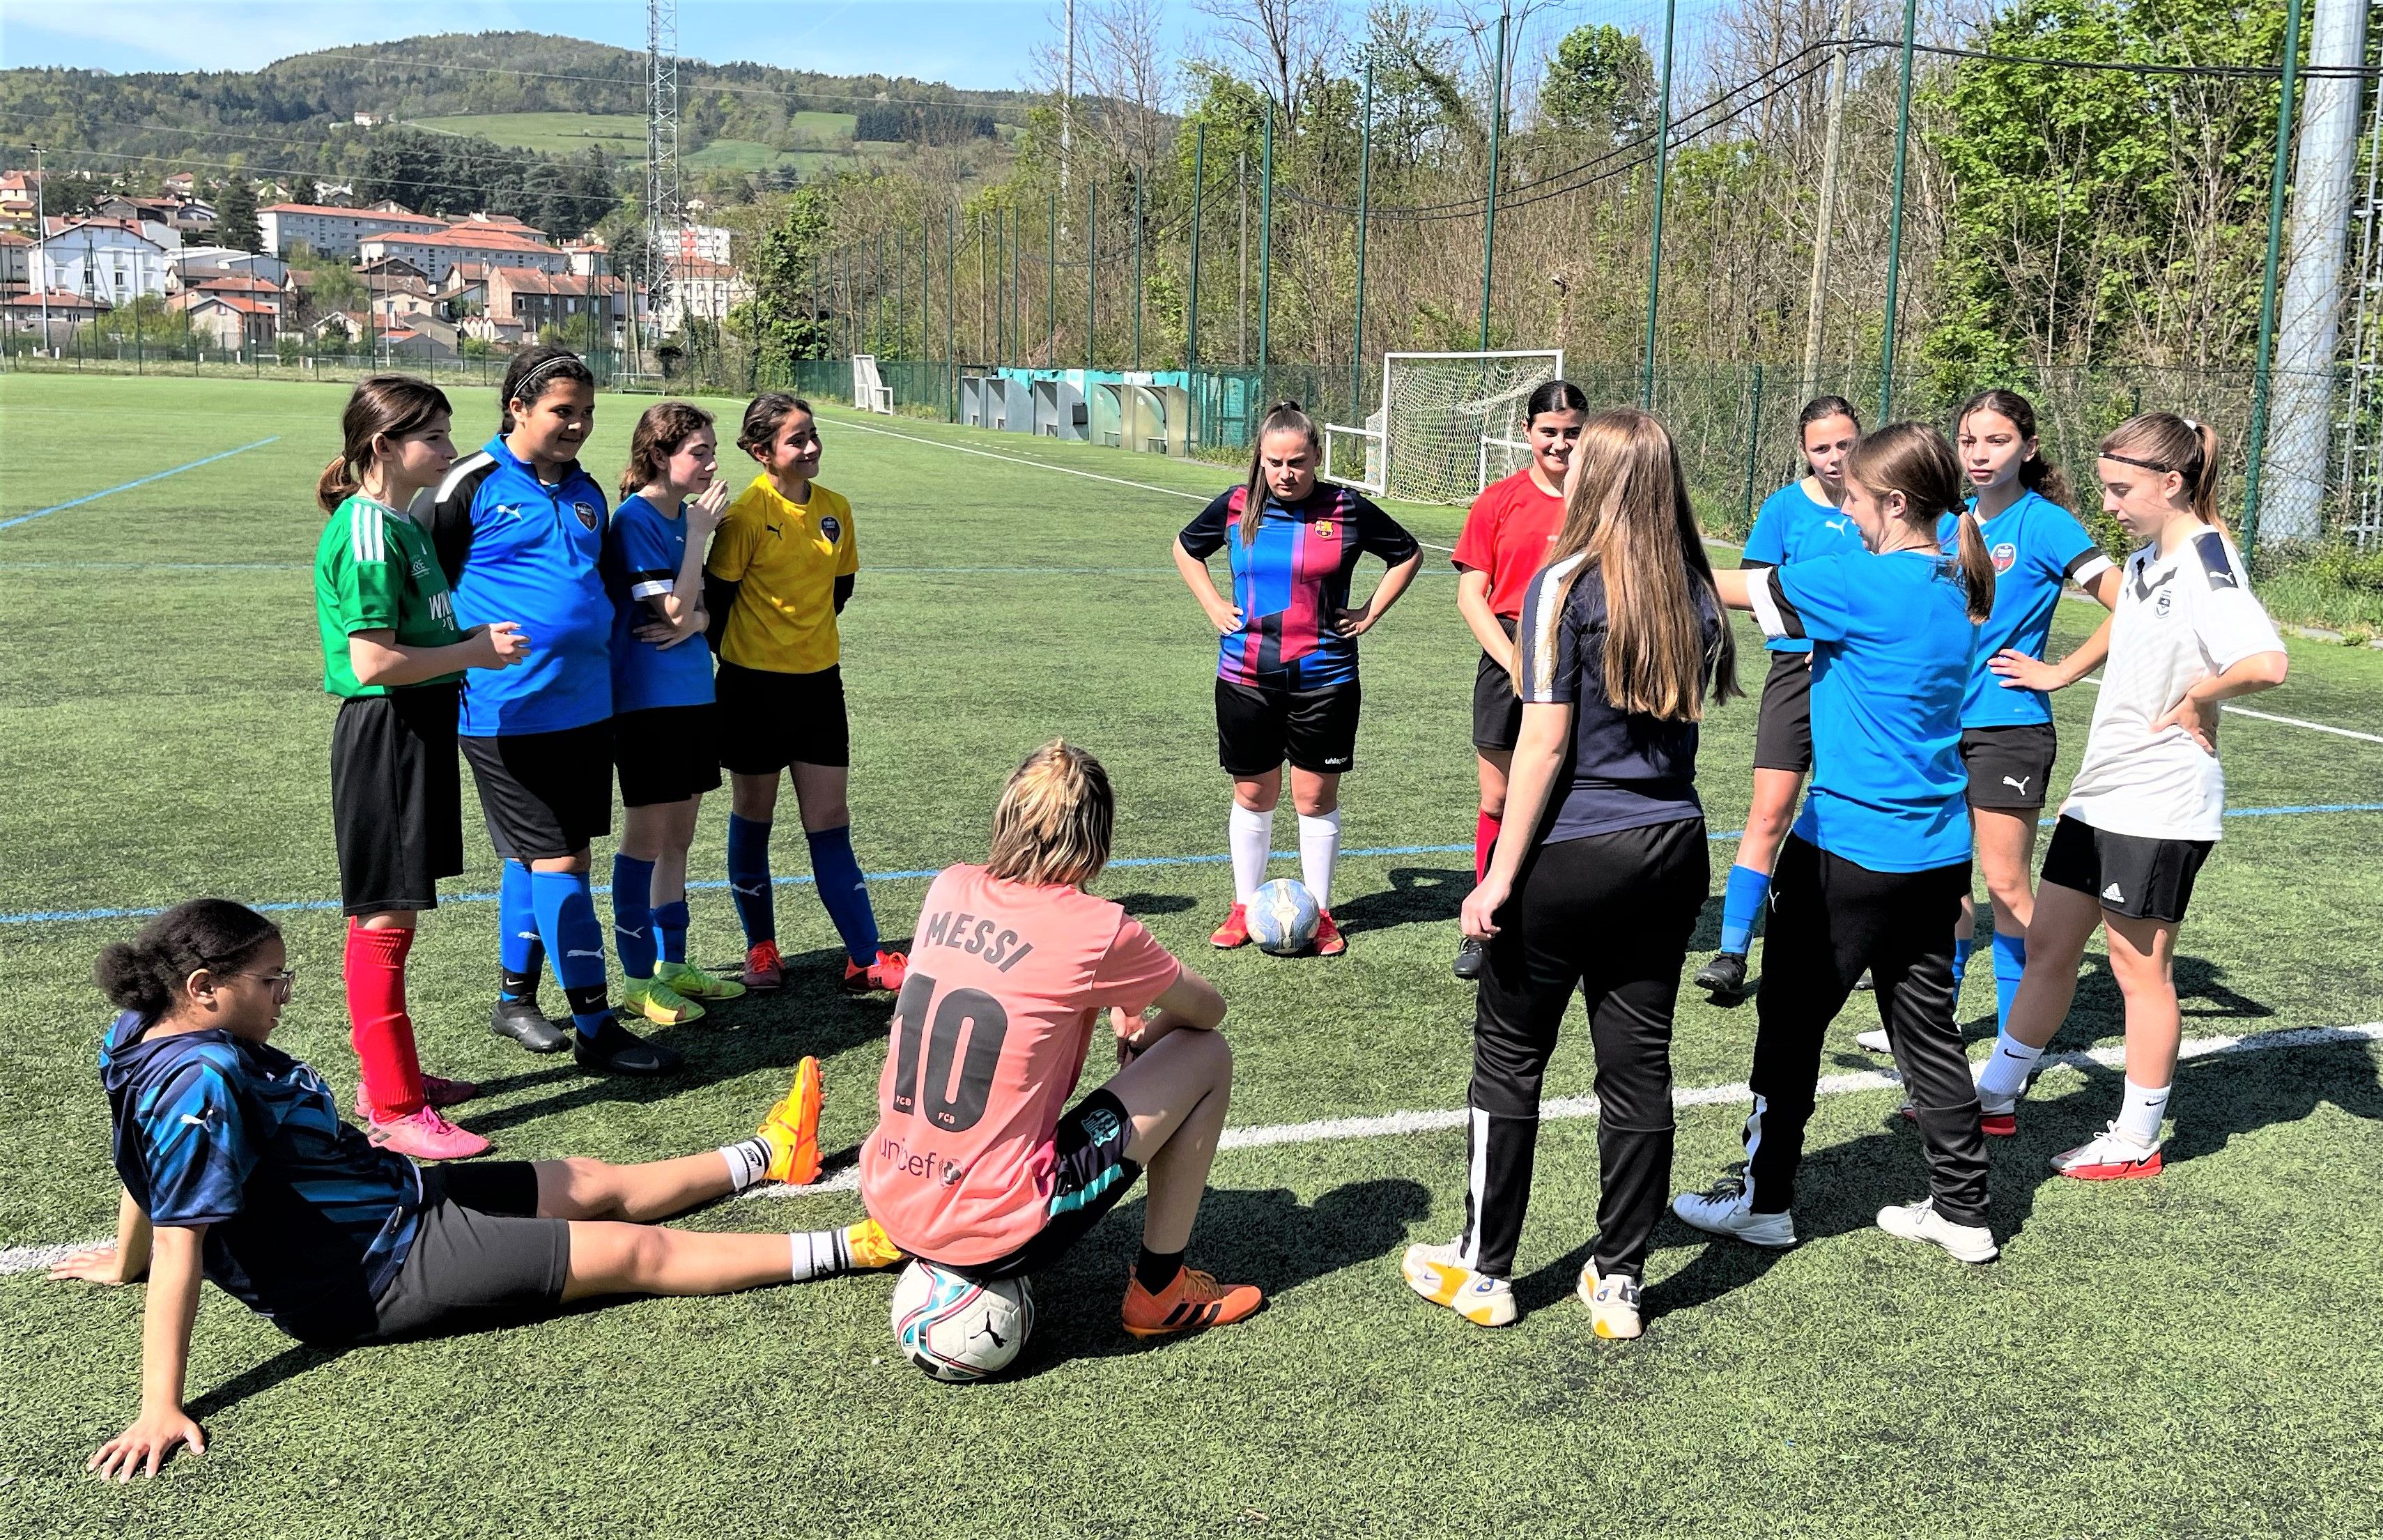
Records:
[[[1396,520],[1346,486],[1318,486],[1323,434],[1296,400],[1258,424],[1249,482],[1220,493],[1175,536],[1175,567],[1222,634],[1215,665],[1218,760],[1232,777],[1232,913],[1211,942],[1249,942],[1249,899],[1265,882],[1292,760],[1299,865],[1320,913],[1315,951],[1346,949],[1332,923],[1339,858],[1339,777],[1356,758],[1356,639],[1399,603],[1423,548]],[[1230,548],[1232,598],[1208,579]],[[1373,596],[1349,606],[1361,555],[1389,567]]]

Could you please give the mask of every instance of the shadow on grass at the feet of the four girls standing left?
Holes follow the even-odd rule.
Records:
[[[786,958],[784,989],[713,1001],[705,1006],[703,1020],[679,1027],[631,1023],[631,1030],[641,1037],[670,1044],[686,1056],[686,1066],[674,1075],[591,1075],[558,1054],[560,1063],[543,1061],[517,1075],[498,1075],[481,1082],[481,1094],[531,1087],[546,1094],[510,1106],[474,1101],[460,1116],[472,1132],[493,1137],[508,1128],[598,1101],[670,1101],[672,1097],[720,1080],[734,1080],[751,1070],[791,1073],[803,1054],[832,1058],[844,1049],[879,1042],[886,1035],[891,1016],[891,996],[844,992],[841,949],[805,951]]]

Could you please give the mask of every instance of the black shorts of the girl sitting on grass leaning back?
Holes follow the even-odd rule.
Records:
[[[550,1316],[570,1268],[572,1225],[539,1218],[536,1166],[424,1166],[415,1247],[381,1290],[372,1340]]]

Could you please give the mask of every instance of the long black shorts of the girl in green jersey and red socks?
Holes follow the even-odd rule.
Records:
[[[341,913],[438,908],[462,870],[460,684],[412,684],[338,703],[331,725],[331,839]]]

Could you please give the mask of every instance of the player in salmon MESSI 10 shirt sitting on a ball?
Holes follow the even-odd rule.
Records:
[[[927,889],[860,1197],[891,1244],[967,1278],[1039,1273],[1151,1173],[1125,1330],[1230,1325],[1265,1304],[1184,1266],[1232,1049],[1225,999],[1084,884],[1108,865],[1101,760],[1044,744],[1010,775],[984,865]],[[1108,1018],[1118,1075],[1060,1104]]]

